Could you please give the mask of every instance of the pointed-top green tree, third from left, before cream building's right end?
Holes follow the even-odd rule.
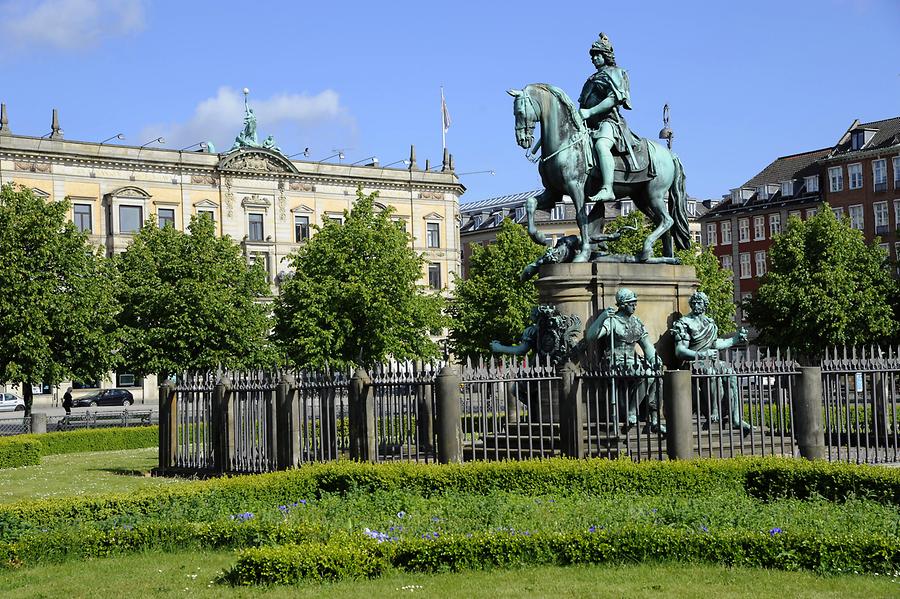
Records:
[[[445,324],[443,297],[419,285],[425,260],[391,220],[393,210],[376,210],[377,196],[359,189],[343,224],[315,227],[291,256],[294,274],[275,298],[274,337],[298,366],[440,355],[429,333]]]

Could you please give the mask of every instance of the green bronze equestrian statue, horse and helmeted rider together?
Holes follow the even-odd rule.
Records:
[[[568,195],[579,228],[579,244],[570,261],[587,262],[594,250],[589,225],[603,215],[602,210],[589,214],[587,203],[628,197],[654,226],[641,253],[626,257],[601,252],[593,259],[677,263],[675,248],[690,245],[681,161],[670,150],[635,136],[628,128],[619,112],[620,107],[631,108],[628,74],[616,65],[604,34],[591,46],[590,56],[597,71],[584,84],[579,107],[565,92],[544,83],[508,90],[514,98],[516,142],[531,154],[541,153],[535,161],[544,191],[525,202],[528,232],[537,243],[546,244],[547,237],[535,226],[534,211],[551,210]],[[538,124],[540,138],[535,144]],[[653,244],[660,238],[663,256],[654,257]]]

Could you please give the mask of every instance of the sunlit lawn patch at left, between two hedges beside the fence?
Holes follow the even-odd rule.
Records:
[[[155,447],[45,456],[39,466],[0,470],[0,504],[128,492],[182,482],[150,476],[157,456]]]

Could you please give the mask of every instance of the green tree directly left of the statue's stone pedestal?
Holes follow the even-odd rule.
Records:
[[[521,225],[504,219],[497,240],[473,245],[466,279],[458,279],[450,302],[450,347],[459,357],[486,356],[496,339],[510,345],[531,320],[538,303],[534,280],[520,281],[522,268],[544,250]]]

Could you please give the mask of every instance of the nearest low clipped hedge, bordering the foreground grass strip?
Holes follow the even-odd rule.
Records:
[[[562,535],[478,534],[381,544],[305,543],[246,549],[223,574],[223,580],[233,585],[294,584],[371,578],[389,567],[411,572],[457,572],[661,560],[821,574],[893,574],[900,569],[900,539],[631,528]]]

